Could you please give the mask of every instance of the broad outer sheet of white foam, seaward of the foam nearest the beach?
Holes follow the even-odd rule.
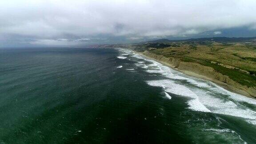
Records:
[[[147,81],[147,83],[151,86],[165,88],[165,92],[191,97],[192,100],[188,101],[188,108],[192,110],[241,117],[248,123],[256,124],[255,111],[243,105],[237,105],[230,100],[217,98],[211,92],[201,89],[189,89],[183,85],[176,84],[172,80],[151,80]]]

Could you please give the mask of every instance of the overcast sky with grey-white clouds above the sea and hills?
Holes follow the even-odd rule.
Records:
[[[0,0],[0,47],[256,36],[256,0]]]

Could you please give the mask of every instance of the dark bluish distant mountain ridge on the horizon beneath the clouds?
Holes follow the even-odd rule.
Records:
[[[196,39],[186,39],[186,40],[168,40],[168,39],[159,39],[159,40],[151,40],[147,42],[141,42],[141,44],[145,43],[163,43],[163,42],[181,42],[181,41],[216,41],[216,42],[240,42],[247,40],[256,40],[256,37],[206,37],[206,38],[196,38]]]

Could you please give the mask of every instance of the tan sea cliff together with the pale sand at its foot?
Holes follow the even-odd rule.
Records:
[[[256,98],[255,87],[248,87],[246,85],[239,84],[229,76],[217,72],[212,67],[204,66],[196,62],[185,62],[180,60],[180,58],[165,57],[149,51],[145,51],[141,54],[157,60],[160,63],[166,64],[171,68],[175,68],[178,71],[184,72],[187,75],[210,80],[233,92]]]

